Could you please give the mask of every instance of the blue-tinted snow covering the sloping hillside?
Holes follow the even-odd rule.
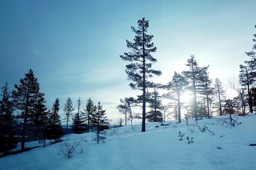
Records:
[[[90,140],[92,133],[66,135],[63,142],[80,141],[83,153],[67,159],[57,149],[59,144],[47,145],[1,158],[0,170],[255,170],[256,146],[249,144],[256,144],[256,116],[239,117],[238,122],[239,126],[226,128],[216,119],[198,121],[201,127],[209,123],[206,126],[215,135],[196,127],[191,133],[184,122],[175,121],[165,122],[170,126],[148,123],[143,133],[141,124],[135,130],[123,126],[100,144]],[[182,141],[179,131],[185,134]],[[188,144],[186,137],[193,137],[193,143]],[[25,147],[41,145],[30,142]]]

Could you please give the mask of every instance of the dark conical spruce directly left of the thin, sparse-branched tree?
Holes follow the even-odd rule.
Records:
[[[47,131],[45,134],[45,137],[47,137],[48,139],[58,139],[63,135],[63,132],[61,132],[61,117],[60,115],[58,115],[58,112],[60,110],[59,102],[60,100],[56,98],[52,106],[52,110],[48,111],[49,123],[47,125]]]

